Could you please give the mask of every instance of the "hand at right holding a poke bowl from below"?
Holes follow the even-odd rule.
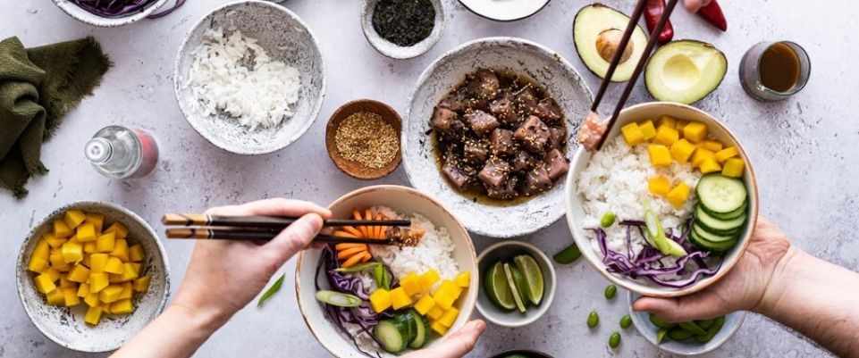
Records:
[[[785,234],[758,216],[745,254],[720,281],[690,296],[641,297],[633,309],[653,312],[671,322],[709,319],[734,311],[760,312],[767,304],[767,289],[773,277],[783,271],[790,251]]]

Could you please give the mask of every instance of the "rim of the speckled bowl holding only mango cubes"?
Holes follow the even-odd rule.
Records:
[[[73,202],[70,204],[65,204],[65,205],[57,208],[55,211],[50,212],[49,214],[47,214],[45,216],[45,218],[42,219],[42,221],[39,221],[38,225],[36,225],[32,229],[30,229],[29,233],[27,234],[27,238],[22,240],[23,242],[21,242],[21,248],[18,251],[18,261],[15,263],[15,265],[16,265],[15,267],[26,267],[25,262],[27,262],[27,258],[24,257],[24,254],[26,254],[26,251],[27,251],[27,244],[29,244],[30,239],[34,238],[33,236],[36,234],[38,229],[40,229],[43,225],[45,225],[47,223],[48,219],[57,216],[60,212],[64,212],[66,210],[80,207],[83,205],[104,206],[104,207],[111,208],[117,212],[122,212],[123,214],[128,215],[128,217],[131,218],[131,220],[138,221],[138,223],[140,225],[142,225],[144,228],[147,229],[147,233],[149,234],[149,236],[151,236],[153,238],[153,241],[155,241],[155,245],[158,247],[158,254],[161,254],[162,261],[164,262],[164,267],[161,268],[161,270],[164,270],[164,296],[161,297],[161,302],[158,304],[156,316],[158,314],[160,314],[161,312],[164,312],[164,308],[167,306],[167,300],[170,298],[170,261],[167,257],[167,252],[166,252],[166,250],[164,250],[164,245],[161,244],[161,240],[158,239],[158,235],[156,234],[155,229],[152,229],[152,227],[149,226],[149,223],[147,221],[143,220],[143,218],[141,218],[137,213],[132,212],[131,210],[129,210],[125,207],[122,207],[118,204],[108,203],[108,202],[97,202],[97,201],[79,201],[79,202]],[[24,273],[26,273],[26,272],[24,272]],[[34,321],[33,312],[30,311],[29,306],[27,304],[24,304],[25,297],[24,297],[23,287],[21,287],[22,281],[21,281],[21,279],[18,279],[20,274],[21,274],[21,272],[19,272],[18,270],[15,270],[15,282],[16,282],[15,286],[18,288],[18,302],[21,303],[21,306],[24,307],[24,312],[27,313],[27,318],[33,324],[33,326],[35,326],[36,329],[38,329],[38,331],[42,334],[42,336],[47,337],[48,339],[52,340],[54,343],[56,343],[59,346],[63,346],[65,348],[71,349],[73,351],[78,351],[78,352],[104,353],[104,352],[114,351],[120,347],[120,346],[115,346],[115,347],[107,347],[103,350],[82,351],[78,348],[74,348],[72,346],[69,346],[68,344],[66,344],[65,342],[60,340],[59,338],[46,332],[45,329],[42,329],[42,326],[40,324],[37,324],[36,321]]]

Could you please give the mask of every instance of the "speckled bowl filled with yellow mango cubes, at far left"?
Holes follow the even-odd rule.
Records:
[[[164,311],[167,255],[137,214],[101,202],[67,204],[34,227],[18,255],[29,320],[60,346],[113,351]]]

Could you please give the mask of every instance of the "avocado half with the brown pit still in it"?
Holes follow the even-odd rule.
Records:
[[[573,42],[576,44],[576,52],[578,56],[585,62],[587,69],[594,74],[605,79],[605,74],[609,71],[611,64],[611,55],[605,53],[598,42],[602,42],[607,31],[614,31],[615,34],[622,35],[627,29],[629,16],[612,9],[604,4],[594,3],[583,7],[576,14],[576,19],[573,21]],[[619,37],[617,37],[619,41]],[[636,30],[633,31],[632,37],[629,39],[631,51],[628,58],[620,62],[618,68],[615,69],[614,75],[611,76],[612,82],[626,82],[632,77],[632,72],[636,70],[636,64],[644,54],[644,46],[647,46],[647,35],[644,34],[644,29],[636,25]],[[611,51],[611,54],[614,52]],[[607,57],[603,58],[603,56]]]

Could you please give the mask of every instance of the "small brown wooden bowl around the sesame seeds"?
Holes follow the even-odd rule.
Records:
[[[349,177],[362,180],[382,179],[400,166],[400,162],[402,161],[402,152],[400,151],[399,143],[397,144],[397,154],[394,156],[393,160],[382,168],[368,168],[360,162],[354,162],[343,158],[340,151],[337,150],[337,145],[334,143],[334,136],[337,135],[337,129],[340,127],[340,123],[349,117],[349,115],[356,112],[378,113],[382,116],[383,121],[386,121],[393,127],[397,132],[397,140],[400,140],[402,123],[400,121],[400,114],[397,114],[397,111],[394,111],[390,105],[383,104],[379,101],[374,101],[372,99],[358,99],[341,105],[337,111],[334,111],[331,118],[328,120],[328,126],[325,128],[325,148],[328,149],[328,157],[331,158],[331,161],[334,162],[337,169],[346,173]]]

